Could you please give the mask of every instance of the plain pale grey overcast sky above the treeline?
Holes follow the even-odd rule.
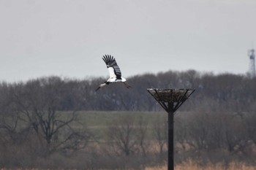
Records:
[[[0,80],[248,71],[255,0],[0,0]],[[253,45],[255,42],[255,45]]]

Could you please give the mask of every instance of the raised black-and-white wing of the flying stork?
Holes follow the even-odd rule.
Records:
[[[103,55],[103,61],[105,61],[110,77],[116,77],[121,80],[121,71],[119,66],[116,63],[116,59],[111,55]]]

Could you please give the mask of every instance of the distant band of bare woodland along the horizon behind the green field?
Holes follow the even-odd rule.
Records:
[[[49,99],[58,102],[59,111],[158,111],[156,101],[148,94],[147,88],[192,88],[195,93],[181,107],[181,111],[208,110],[249,112],[255,109],[256,79],[238,74],[187,72],[160,72],[129,77],[125,88],[122,83],[113,83],[105,88],[95,89],[105,78],[72,80],[61,77],[41,77],[28,82],[0,84],[0,104],[7,106],[13,98],[20,100]],[[33,97],[31,97],[33,96]],[[27,97],[27,98],[24,98]],[[24,98],[24,99],[23,99]]]

